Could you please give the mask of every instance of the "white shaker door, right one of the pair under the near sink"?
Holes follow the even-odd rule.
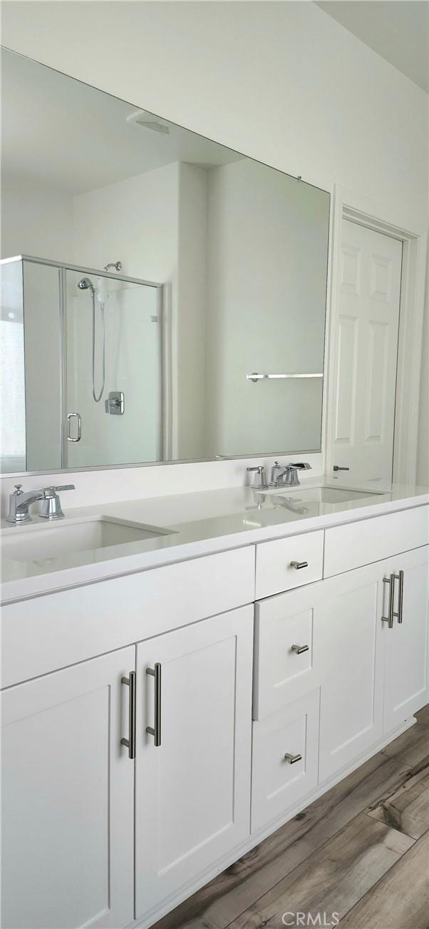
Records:
[[[137,646],[136,918],[250,834],[253,612]]]

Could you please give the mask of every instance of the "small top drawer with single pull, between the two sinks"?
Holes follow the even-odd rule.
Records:
[[[322,531],[256,545],[256,599],[318,581],[322,566]]]

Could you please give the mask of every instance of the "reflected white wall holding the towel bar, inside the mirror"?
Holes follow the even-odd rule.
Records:
[[[247,159],[208,189],[209,454],[318,450],[321,379],[246,374],[323,371],[329,197]]]

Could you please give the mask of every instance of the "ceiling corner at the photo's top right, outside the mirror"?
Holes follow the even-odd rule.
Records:
[[[429,91],[427,0],[317,0],[317,6]]]

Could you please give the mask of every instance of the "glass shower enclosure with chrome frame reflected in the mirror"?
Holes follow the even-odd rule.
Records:
[[[162,460],[162,284],[27,256],[0,272],[2,471]]]

